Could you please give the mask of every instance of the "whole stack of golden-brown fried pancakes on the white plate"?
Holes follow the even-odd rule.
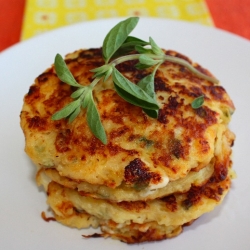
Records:
[[[187,57],[165,53],[211,76]],[[65,61],[82,85],[92,81],[91,69],[104,64],[101,49],[79,50]],[[134,83],[152,71],[137,70],[136,63],[117,66]],[[52,66],[36,78],[21,112],[25,151],[57,221],[79,229],[100,227],[100,236],[137,243],[177,236],[222,202],[233,177],[234,141],[228,129],[234,105],[223,87],[165,62],[155,76],[160,110],[153,119],[124,101],[111,78],[98,83],[94,99],[107,145],[91,133],[84,109],[72,123],[52,121],[72,101],[73,91]],[[203,106],[192,108],[201,95]]]

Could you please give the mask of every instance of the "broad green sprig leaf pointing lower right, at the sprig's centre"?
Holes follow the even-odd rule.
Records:
[[[125,76],[123,76],[116,68],[113,70],[113,81],[115,83],[116,90],[122,93],[122,97],[129,102],[150,110],[158,110],[159,106],[154,98],[149,96],[143,89],[136,84],[130,82]],[[117,88],[118,87],[118,88]],[[127,93],[127,95],[125,95]],[[134,98],[134,100],[132,100]]]

